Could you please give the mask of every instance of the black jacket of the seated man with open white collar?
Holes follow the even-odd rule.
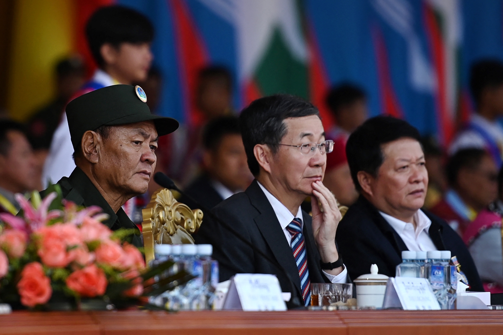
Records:
[[[461,264],[473,291],[483,291],[473,259],[465,243],[452,228],[439,217],[423,210],[432,220],[428,234],[438,250],[451,250]],[[367,199],[360,196],[337,228],[339,253],[348,268],[351,279],[370,273],[377,264],[379,273],[394,277],[396,266],[402,262],[401,252],[408,250],[398,233],[389,225]]]

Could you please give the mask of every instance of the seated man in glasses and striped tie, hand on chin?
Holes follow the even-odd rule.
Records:
[[[218,222],[205,219],[197,243],[211,243],[220,281],[236,273],[278,277],[283,292],[310,304],[310,283],[346,283],[347,270],[335,243],[341,213],[323,186],[326,153],[319,112],[293,96],[275,95],[252,102],[239,116],[248,167],[255,181],[213,209],[257,248],[275,258],[283,271],[239,241]],[[312,218],[301,210],[312,199]]]

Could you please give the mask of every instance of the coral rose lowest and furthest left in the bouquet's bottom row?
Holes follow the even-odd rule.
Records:
[[[25,266],[21,272],[18,291],[21,303],[28,307],[49,301],[52,295],[51,281],[44,274],[40,263],[33,262]]]

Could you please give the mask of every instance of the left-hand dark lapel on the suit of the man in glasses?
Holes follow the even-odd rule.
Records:
[[[299,270],[297,269],[297,264],[293,257],[292,248],[288,245],[273,207],[256,180],[251,183],[245,193],[248,195],[251,204],[260,212],[260,215],[254,218],[257,227],[271,248],[276,260],[283,266],[293,280],[298,291],[297,293],[302,296]]]

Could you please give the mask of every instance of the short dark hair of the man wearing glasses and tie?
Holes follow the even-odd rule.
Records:
[[[286,94],[257,99],[241,111],[239,128],[248,167],[254,176],[260,172],[259,162],[253,152],[255,146],[267,144],[273,152],[277,152],[279,143],[287,133],[283,120],[309,115],[319,117],[318,109],[313,104]]]

